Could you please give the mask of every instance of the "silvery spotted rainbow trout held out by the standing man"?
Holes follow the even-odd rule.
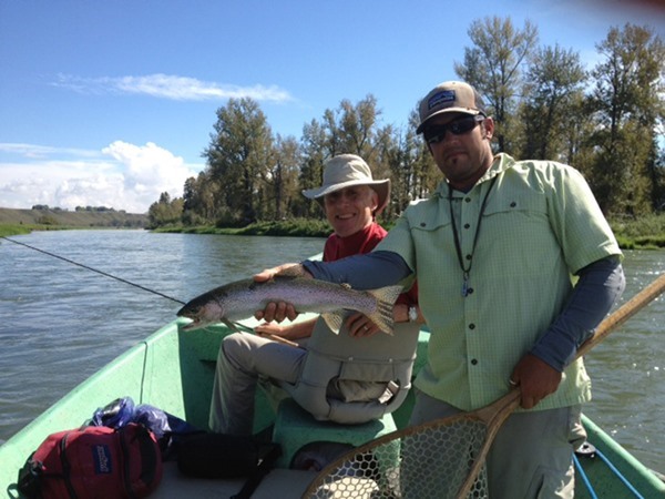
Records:
[[[177,315],[193,320],[183,328],[185,330],[215,323],[224,323],[237,330],[235,320],[253,316],[270,302],[286,302],[298,313],[319,313],[335,333],[339,333],[345,310],[350,309],[361,312],[379,329],[392,334],[392,305],[401,291],[401,286],[387,286],[361,292],[346,284],[293,276],[275,276],[263,283],[243,279],[197,296]]]

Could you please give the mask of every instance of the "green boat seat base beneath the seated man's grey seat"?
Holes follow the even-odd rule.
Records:
[[[290,467],[296,452],[309,442],[336,441],[357,447],[395,430],[397,426],[388,413],[360,425],[344,425],[317,420],[293,398],[287,398],[279,404],[273,430],[273,441],[282,446],[277,467]]]

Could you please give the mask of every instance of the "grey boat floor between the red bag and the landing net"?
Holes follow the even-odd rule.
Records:
[[[273,469],[264,477],[252,499],[298,499],[316,477],[315,471]],[[164,462],[164,477],[154,499],[229,498],[241,491],[245,479],[197,479],[186,477],[177,469],[176,462]]]

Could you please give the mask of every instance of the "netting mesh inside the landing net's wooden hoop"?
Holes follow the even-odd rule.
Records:
[[[473,419],[398,432],[361,446],[324,469],[307,499],[457,498],[475,462],[487,426]],[[467,498],[488,497],[484,465]]]

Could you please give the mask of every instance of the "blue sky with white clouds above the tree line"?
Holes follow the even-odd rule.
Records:
[[[626,8],[623,4],[633,7]],[[147,211],[205,167],[216,110],[259,102],[275,134],[374,94],[409,112],[484,17],[528,19],[591,69],[611,27],[665,37],[662,0],[0,0],[0,207]]]

